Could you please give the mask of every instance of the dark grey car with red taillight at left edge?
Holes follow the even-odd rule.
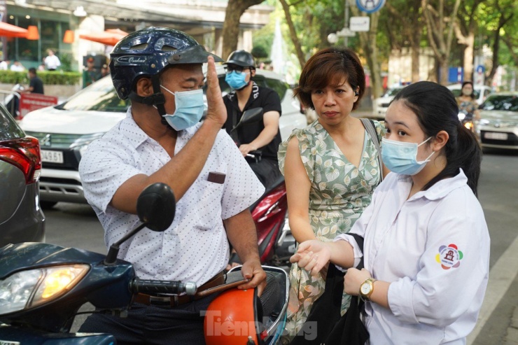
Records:
[[[0,105],[0,247],[45,240],[40,171],[38,139],[27,136]]]

